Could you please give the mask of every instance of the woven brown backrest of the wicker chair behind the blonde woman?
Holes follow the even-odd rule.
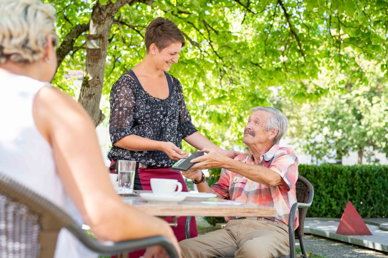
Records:
[[[0,173],[1,257],[54,257],[62,227],[87,236],[64,210]]]

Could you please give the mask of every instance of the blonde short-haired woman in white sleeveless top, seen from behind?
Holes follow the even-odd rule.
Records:
[[[0,172],[45,196],[80,225],[85,221],[101,240],[162,235],[180,253],[164,220],[120,200],[91,119],[76,101],[51,87],[57,70],[54,13],[40,0],[0,0],[0,108],[5,121],[0,129]],[[167,255],[155,247],[145,254],[153,256]],[[97,255],[62,229],[55,257]]]

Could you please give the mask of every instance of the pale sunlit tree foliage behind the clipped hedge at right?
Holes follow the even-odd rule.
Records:
[[[335,158],[341,162],[349,151],[369,162],[378,163],[374,152],[388,154],[388,83],[374,62],[357,60],[363,67],[368,84],[363,79],[349,81],[343,93],[322,96],[317,102],[295,105],[279,100],[275,106],[285,110],[291,120],[290,134],[303,153],[315,157]],[[338,80],[348,80],[347,74]],[[328,75],[320,75],[320,84]]]

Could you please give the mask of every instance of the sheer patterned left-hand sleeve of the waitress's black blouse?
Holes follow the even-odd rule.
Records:
[[[111,114],[109,117],[109,134],[112,144],[133,134],[133,107],[135,96],[133,94],[131,79],[121,76],[113,84],[109,102],[111,104]]]

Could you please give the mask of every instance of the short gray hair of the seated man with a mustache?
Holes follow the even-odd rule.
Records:
[[[288,130],[288,119],[282,112],[272,107],[254,107],[249,109],[249,112],[252,114],[255,111],[265,111],[271,114],[265,123],[265,131],[270,131],[272,129],[277,129],[277,135],[272,141],[272,145],[279,144],[280,139],[286,134]]]

